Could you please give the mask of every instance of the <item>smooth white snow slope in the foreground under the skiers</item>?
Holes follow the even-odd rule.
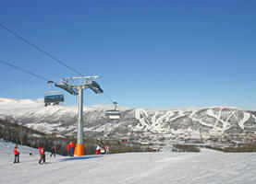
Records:
[[[13,164],[14,144],[0,144],[1,184],[206,184],[256,183],[256,153],[129,153],[67,157],[46,154],[39,165],[37,149],[20,146],[20,163]],[[34,154],[30,157],[29,152]]]

